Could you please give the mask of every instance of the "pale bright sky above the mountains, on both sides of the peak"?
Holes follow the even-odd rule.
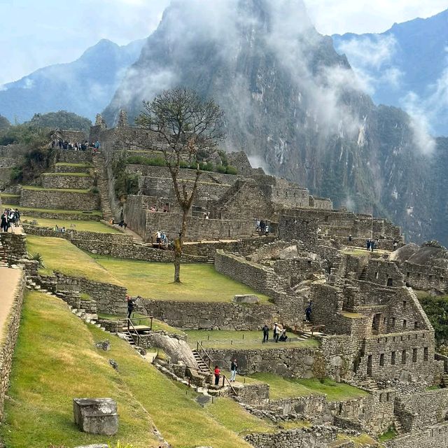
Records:
[[[209,0],[216,1],[216,0]],[[223,1],[223,0],[218,0]],[[275,0],[271,0],[275,1]],[[379,32],[448,7],[447,0],[304,0],[323,34]],[[124,45],[157,27],[169,0],[0,0],[0,86],[71,62],[101,38]]]

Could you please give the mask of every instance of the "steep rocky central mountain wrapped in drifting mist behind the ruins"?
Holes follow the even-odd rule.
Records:
[[[414,240],[448,243],[447,140],[434,141],[400,109],[375,106],[302,1],[174,1],[104,116],[112,124],[124,108],[132,119],[142,99],[173,85],[214,97],[228,148],[268,172],[337,207],[386,214]]]

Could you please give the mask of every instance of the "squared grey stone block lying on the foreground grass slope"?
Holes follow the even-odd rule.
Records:
[[[73,398],[76,426],[89,434],[116,435],[117,402],[112,398]]]

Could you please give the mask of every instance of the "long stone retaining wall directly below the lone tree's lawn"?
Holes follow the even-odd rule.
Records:
[[[160,321],[186,330],[260,330],[265,323],[274,323],[277,314],[272,304],[175,302],[146,298],[138,303]]]

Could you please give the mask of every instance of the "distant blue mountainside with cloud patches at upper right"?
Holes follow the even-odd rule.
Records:
[[[448,135],[448,10],[381,34],[336,34],[374,102],[402,107],[435,135]]]

